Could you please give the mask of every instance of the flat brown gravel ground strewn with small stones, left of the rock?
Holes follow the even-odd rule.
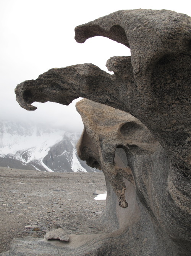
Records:
[[[64,218],[79,214],[95,219],[105,201],[103,173],[52,173],[0,167],[0,253],[13,238],[44,237]]]

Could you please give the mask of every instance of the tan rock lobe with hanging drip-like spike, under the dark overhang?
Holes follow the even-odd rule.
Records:
[[[126,208],[123,178],[134,184],[127,150],[137,155],[152,154],[159,142],[138,119],[126,112],[89,100],[79,101],[76,108],[85,126],[77,145],[78,155],[89,166],[104,171],[119,205]]]

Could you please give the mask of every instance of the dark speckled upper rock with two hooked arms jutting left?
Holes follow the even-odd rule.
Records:
[[[185,14],[142,9],[118,11],[81,25],[76,28],[78,42],[112,31],[112,40],[126,40],[123,43],[130,46],[131,56],[107,61],[114,75],[93,64],[50,69],[36,80],[19,84],[16,99],[21,107],[35,110],[34,101],[68,105],[86,97],[129,112],[188,173],[190,26],[191,18]]]

